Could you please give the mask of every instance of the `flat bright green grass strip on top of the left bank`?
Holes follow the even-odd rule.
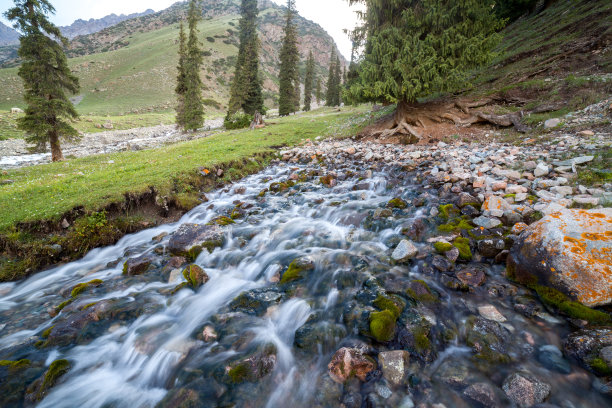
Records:
[[[278,119],[260,130],[231,131],[154,150],[10,170],[0,176],[14,181],[0,186],[0,202],[8,204],[0,208],[0,230],[17,222],[57,220],[77,206],[95,211],[122,201],[127,192],[138,194],[150,187],[167,194],[178,178],[200,167],[247,160],[275,146],[295,145],[307,138],[349,135],[357,126],[350,125],[351,121],[363,121],[367,109],[322,109]]]

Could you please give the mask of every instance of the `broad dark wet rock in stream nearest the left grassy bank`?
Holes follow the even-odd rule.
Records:
[[[203,249],[212,252],[224,243],[225,234],[216,225],[183,224],[170,238],[168,250],[173,255],[195,259]]]

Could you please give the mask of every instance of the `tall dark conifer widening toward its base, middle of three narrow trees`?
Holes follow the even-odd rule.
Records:
[[[241,109],[249,115],[264,111],[262,83],[259,76],[257,0],[242,0],[240,11],[240,47],[232,82],[228,116]]]

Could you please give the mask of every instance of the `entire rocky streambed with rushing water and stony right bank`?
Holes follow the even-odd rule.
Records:
[[[0,285],[0,405],[610,406],[611,186],[570,187],[558,147],[283,152]]]

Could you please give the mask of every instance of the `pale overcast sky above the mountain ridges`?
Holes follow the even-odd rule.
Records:
[[[272,0],[286,4],[286,0]],[[176,0],[51,0],[56,9],[52,21],[60,26],[70,25],[82,18],[100,18],[108,14],[130,14],[147,9],[163,10]],[[0,13],[4,14],[13,5],[12,0],[0,0]],[[357,17],[346,0],[296,0],[300,14],[320,24],[338,43],[340,51],[348,59],[351,55],[351,42],[344,34],[345,28],[355,27]],[[353,7],[355,9],[355,7]],[[4,17],[2,22],[8,25]]]

